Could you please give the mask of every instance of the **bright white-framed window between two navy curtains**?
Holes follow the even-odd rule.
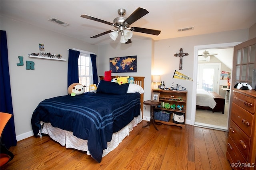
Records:
[[[86,86],[86,92],[89,91],[89,86],[93,83],[92,74],[92,61],[90,57],[90,52],[83,51],[80,49],[75,49],[80,51],[78,58],[78,78],[79,83]]]

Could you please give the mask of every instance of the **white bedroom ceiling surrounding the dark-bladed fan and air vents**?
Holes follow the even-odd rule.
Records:
[[[0,6],[1,16],[96,45],[110,43],[112,40],[108,34],[95,39],[90,37],[114,30],[114,27],[81,18],[82,14],[113,22],[113,19],[118,17],[117,10],[119,8],[126,10],[125,17],[130,16],[138,7],[145,8],[149,13],[131,26],[161,30],[161,33],[154,36],[133,32],[132,40],[142,38],[162,40],[210,34],[250,28],[256,23],[255,0],[1,0]],[[60,26],[48,21],[50,18],[57,18],[70,26]],[[194,27],[194,30],[177,31],[187,27]]]

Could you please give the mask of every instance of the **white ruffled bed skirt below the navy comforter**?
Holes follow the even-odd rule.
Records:
[[[113,133],[112,140],[108,142],[108,148],[103,150],[102,157],[114,150],[122,142],[122,140],[130,134],[130,131],[132,131],[133,128],[142,121],[141,115],[142,114],[140,113],[140,115],[138,117],[134,117],[134,119],[128,125],[126,125],[126,127],[122,128],[116,133]],[[56,142],[59,142],[62,146],[66,145],[66,148],[87,151],[86,154],[90,155],[87,140],[77,138],[73,135],[73,132],[52,127],[50,123],[44,123],[42,133],[48,134],[50,138]]]

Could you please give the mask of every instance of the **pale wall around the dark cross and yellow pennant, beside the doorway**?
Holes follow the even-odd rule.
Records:
[[[218,32],[214,34],[205,34],[199,36],[189,36],[182,38],[173,38],[166,40],[159,40],[155,42],[155,57],[154,68],[158,70],[161,75],[161,80],[165,81],[167,87],[174,84],[182,85],[188,90],[187,105],[186,105],[186,123],[190,124],[192,112],[192,86],[193,81],[186,81],[182,79],[172,79],[174,71],[187,75],[194,81],[196,73],[194,69],[194,46],[230,42],[244,42],[248,40],[248,29],[234,30],[230,32]],[[179,53],[179,49],[183,48],[184,53],[188,56],[183,57],[183,69],[179,70],[179,57],[174,57],[175,53]],[[196,66],[197,67],[197,66]],[[195,107],[194,107],[195,108]]]

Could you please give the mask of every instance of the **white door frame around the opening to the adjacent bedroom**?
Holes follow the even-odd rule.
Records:
[[[210,48],[233,48],[235,45],[239,44],[241,42],[235,42],[235,43],[222,43],[222,44],[211,44],[211,45],[197,45],[194,47],[194,65],[198,66],[198,51],[200,49],[210,49]],[[233,54],[232,54],[233,56]],[[194,67],[194,73],[198,72],[198,67]],[[194,79],[197,80],[198,74],[194,74]],[[193,91],[192,91],[192,113],[191,113],[191,121],[190,125],[194,126],[200,126],[200,127],[207,127],[212,129],[218,129],[218,130],[224,130],[228,131],[228,121],[226,123],[226,126],[220,127],[216,125],[210,125],[206,121],[206,123],[197,123],[196,120],[196,89],[197,89],[197,81],[193,82]],[[229,103],[225,105],[226,109],[229,109]],[[229,110],[227,110],[227,113],[229,113]],[[214,118],[211,118],[214,119]],[[219,117],[218,117],[219,119]],[[217,119],[217,120],[218,120]],[[227,114],[227,119],[229,120],[229,114]]]

